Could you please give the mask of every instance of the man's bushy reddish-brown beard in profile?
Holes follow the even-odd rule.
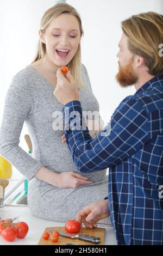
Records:
[[[126,66],[120,65],[119,72],[116,75],[116,80],[122,87],[132,86],[137,82],[137,79],[137,76],[134,74],[132,59]]]

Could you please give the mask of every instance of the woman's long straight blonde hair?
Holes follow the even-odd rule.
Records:
[[[77,13],[76,9],[74,9],[71,5],[66,3],[58,3],[55,4],[53,7],[49,8],[45,11],[41,22],[40,22],[40,32],[43,34],[45,33],[47,27],[55,20],[60,14],[71,14],[75,16],[79,23],[80,29],[80,36],[83,35],[83,27],[82,21],[80,19],[79,14]],[[46,45],[43,44],[41,40],[38,42],[36,56],[33,60],[33,63],[37,62],[38,60],[43,59],[46,53]],[[73,75],[76,83],[78,84],[78,88],[83,87],[82,78],[81,78],[81,46],[79,43],[78,50],[74,57],[72,58],[71,62],[68,63],[68,69],[70,70],[71,74]]]

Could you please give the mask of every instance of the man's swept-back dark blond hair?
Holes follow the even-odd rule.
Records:
[[[133,15],[122,21],[122,30],[128,37],[129,50],[145,59],[148,73],[163,74],[163,57],[159,45],[163,43],[163,16],[152,11]]]

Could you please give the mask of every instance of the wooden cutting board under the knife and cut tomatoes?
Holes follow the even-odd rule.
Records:
[[[46,228],[43,232],[48,232],[49,230],[57,230],[65,232],[65,227],[53,227],[53,228]],[[42,232],[42,234],[43,234]],[[101,242],[96,244],[96,243],[90,243],[90,242],[86,242],[83,240],[79,240],[79,239],[71,239],[68,237],[64,237],[64,236],[59,236],[58,242],[53,243],[51,241],[51,234],[48,240],[44,240],[42,238],[42,234],[41,234],[41,238],[40,241],[38,243],[38,245],[66,245],[66,243],[73,243],[74,245],[104,245],[104,240],[105,240],[105,228],[93,228],[93,229],[87,229],[85,227],[82,228],[82,230],[80,230],[79,233],[77,234],[86,234],[86,235],[93,235],[93,236],[98,236],[101,239]]]

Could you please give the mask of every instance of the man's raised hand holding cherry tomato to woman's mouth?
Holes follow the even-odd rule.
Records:
[[[67,72],[66,77],[62,74],[61,69],[57,70],[57,86],[54,96],[64,105],[70,101],[79,100],[78,86],[70,71]]]

